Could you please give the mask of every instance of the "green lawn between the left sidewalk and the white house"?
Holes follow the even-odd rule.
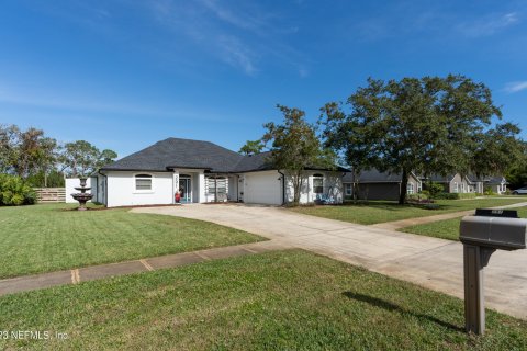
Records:
[[[72,208],[0,207],[0,278],[262,240],[201,220]]]

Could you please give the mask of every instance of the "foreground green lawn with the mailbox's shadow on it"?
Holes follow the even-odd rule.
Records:
[[[2,330],[67,333],[0,349],[525,350],[527,322],[301,250],[268,252],[0,297]]]

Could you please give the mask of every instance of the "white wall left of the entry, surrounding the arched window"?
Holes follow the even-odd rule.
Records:
[[[135,176],[150,174],[152,190],[136,191]],[[173,203],[172,172],[109,172],[108,207]]]

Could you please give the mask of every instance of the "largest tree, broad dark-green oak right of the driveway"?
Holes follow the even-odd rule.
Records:
[[[503,172],[517,155],[496,160],[505,145],[519,146],[519,131],[511,124],[491,128],[493,118],[502,117],[500,107],[487,87],[463,76],[370,78],[346,105],[333,102],[322,109],[325,144],[359,173],[377,168],[401,174],[400,203],[405,202],[412,171]]]

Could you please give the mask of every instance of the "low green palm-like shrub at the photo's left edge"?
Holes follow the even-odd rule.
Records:
[[[36,193],[22,178],[0,174],[0,205],[20,206],[36,202]]]

